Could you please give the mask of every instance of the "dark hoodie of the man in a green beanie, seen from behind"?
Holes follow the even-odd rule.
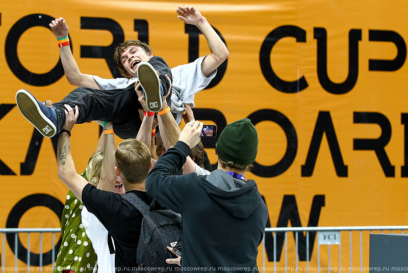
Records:
[[[175,175],[190,154],[183,142],[157,161],[146,192],[182,214],[182,269],[189,272],[258,271],[258,245],[268,211],[257,184],[222,170],[210,175]]]

